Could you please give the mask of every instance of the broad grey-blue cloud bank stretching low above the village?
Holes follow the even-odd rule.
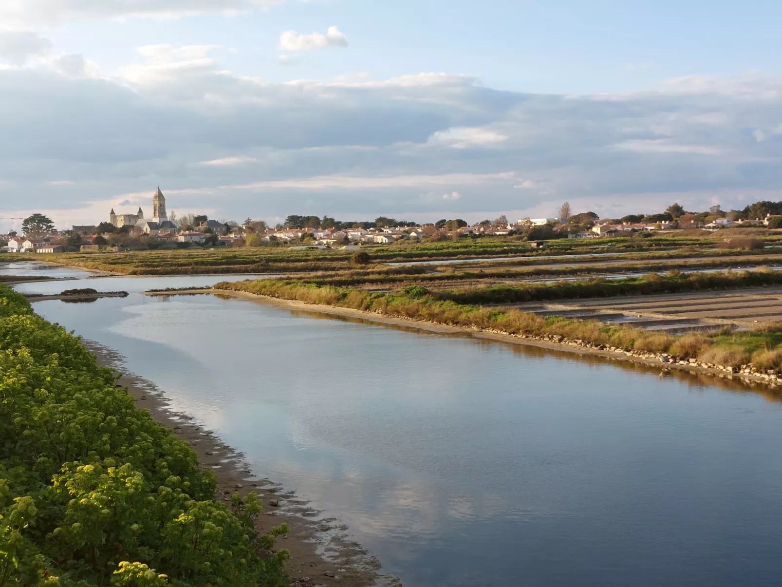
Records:
[[[329,42],[310,36],[289,46]],[[777,77],[613,95],[504,92],[447,73],[280,84],[226,70],[223,50],[148,45],[109,77],[35,34],[0,37],[5,208],[23,193],[26,209],[96,221],[75,217],[138,205],[158,184],[175,210],[239,219],[782,200]]]

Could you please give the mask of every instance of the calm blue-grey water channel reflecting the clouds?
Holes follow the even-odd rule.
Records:
[[[221,279],[17,289],[130,291],[34,308],[119,351],[407,587],[782,584],[776,400],[262,301],[141,294]]]

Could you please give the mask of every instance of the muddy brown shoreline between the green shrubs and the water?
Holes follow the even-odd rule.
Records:
[[[164,392],[154,384],[127,373],[120,353],[91,340],[83,342],[99,365],[123,373],[117,384],[127,388],[139,408],[149,411],[156,422],[188,442],[198,454],[200,466],[217,477],[218,500],[229,502],[233,492],[242,495],[257,492],[264,503],[264,513],[256,523],[258,531],[265,533],[283,522],[289,525],[289,534],[278,538],[274,548],[288,549],[291,553],[285,564],[291,585],[371,587],[398,584],[396,578],[378,573],[379,561],[348,538],[347,527],[340,525],[339,520],[308,507],[307,502],[297,499],[294,492],[285,491],[280,484],[253,475],[242,453],[200,426],[192,416],[172,411]],[[278,506],[271,505],[273,500]]]

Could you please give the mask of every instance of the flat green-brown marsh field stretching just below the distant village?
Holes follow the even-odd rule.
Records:
[[[730,231],[723,231],[730,232]],[[767,231],[766,231],[767,232]],[[782,236],[769,234],[766,248],[751,250],[751,239],[726,239],[716,236],[640,236],[616,239],[558,239],[547,241],[543,250],[533,248],[518,237],[483,239],[462,238],[457,241],[414,243],[400,241],[393,245],[364,247],[371,265],[431,263],[446,265],[468,261],[464,268],[522,269],[554,268],[558,272],[589,265],[633,265],[637,262],[674,262],[680,264],[706,260],[719,264],[740,261],[741,257],[764,258],[764,263],[782,262]],[[755,239],[756,240],[756,239]],[[144,250],[124,253],[68,253],[8,255],[6,259],[47,261],[74,265],[95,272],[120,275],[197,275],[260,274],[300,272],[343,272],[353,268],[353,250],[293,249],[291,247],[206,248],[188,250]],[[512,259],[512,261],[511,261]],[[712,265],[713,266],[713,265]],[[668,268],[673,268],[670,265]],[[443,268],[442,271],[446,271]],[[642,270],[642,269],[638,269]]]

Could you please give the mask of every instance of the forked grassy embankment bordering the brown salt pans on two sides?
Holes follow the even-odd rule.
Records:
[[[782,348],[778,348],[782,343],[782,329],[777,329],[775,325],[768,325],[765,330],[751,333],[676,336],[632,326],[612,326],[593,320],[567,319],[561,316],[543,318],[515,308],[486,308],[480,304],[662,294],[780,284],[782,272],[725,272],[697,275],[673,273],[664,276],[651,274],[643,278],[616,281],[592,279],[576,283],[488,286],[437,292],[421,286],[407,286],[391,294],[320,286],[293,280],[223,282],[214,288],[525,337],[583,340],[599,348],[665,353],[678,358],[695,358],[709,365],[738,367],[752,361],[762,369],[777,369],[782,367]]]

